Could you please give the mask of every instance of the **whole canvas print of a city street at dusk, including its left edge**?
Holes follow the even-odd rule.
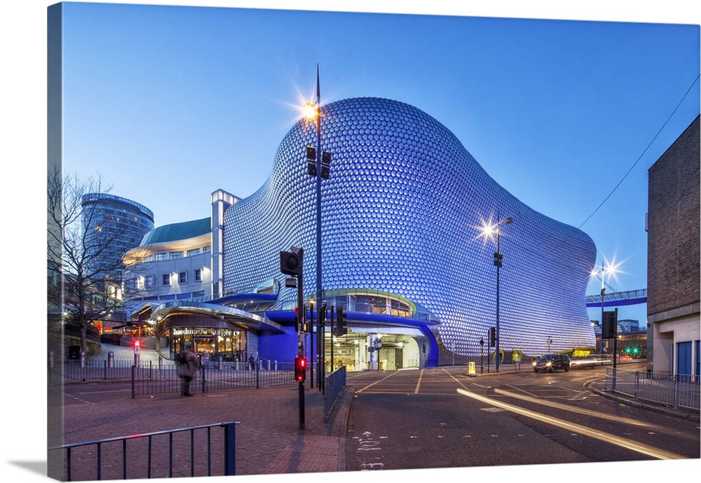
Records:
[[[699,25],[47,19],[49,477],[699,460]]]

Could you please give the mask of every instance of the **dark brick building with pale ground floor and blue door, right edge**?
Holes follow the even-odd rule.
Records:
[[[648,170],[648,369],[700,375],[699,118]]]

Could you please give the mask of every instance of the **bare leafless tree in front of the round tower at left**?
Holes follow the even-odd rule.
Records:
[[[48,271],[62,274],[64,317],[79,325],[82,351],[87,351],[88,326],[121,303],[112,291],[121,288],[123,264],[108,255],[123,229],[95,204],[83,203],[84,195],[109,190],[99,174],[83,180],[57,168],[48,175]]]

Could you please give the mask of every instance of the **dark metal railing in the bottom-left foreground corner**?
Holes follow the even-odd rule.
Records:
[[[231,476],[236,475],[237,424],[229,421],[111,437],[62,444],[49,447],[48,451],[64,451],[62,480],[69,482]],[[222,428],[222,431],[212,432],[212,428]],[[203,461],[206,461],[206,465],[202,464]]]

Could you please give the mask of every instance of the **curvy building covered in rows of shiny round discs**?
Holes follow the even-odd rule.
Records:
[[[431,351],[479,356],[496,323],[498,286],[503,351],[594,346],[589,236],[510,195],[413,106],[363,97],[321,110],[320,145],[332,155],[321,187],[322,288],[329,305],[346,308],[352,333],[419,328],[424,353],[428,342]],[[278,308],[293,307],[280,251],[296,246],[304,248],[304,295],[315,298],[316,178],[306,146],[316,144],[315,120],[300,120],[264,186],[224,212],[222,292],[255,293],[274,280],[268,285],[283,287],[273,290]],[[499,222],[498,240],[484,236]]]

